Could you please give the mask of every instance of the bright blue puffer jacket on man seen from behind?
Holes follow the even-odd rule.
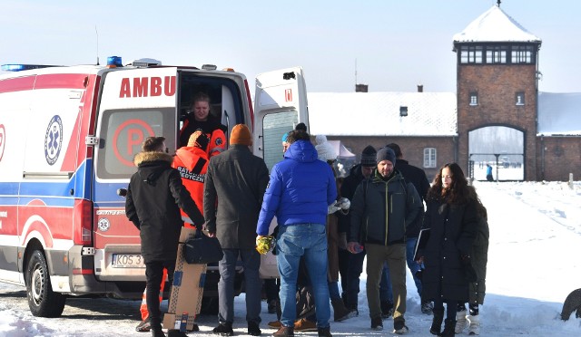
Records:
[[[297,140],[274,165],[264,193],[256,233],[268,235],[272,218],[279,225],[327,222],[327,207],[335,202],[337,186],[329,164],[317,159],[308,140]]]

